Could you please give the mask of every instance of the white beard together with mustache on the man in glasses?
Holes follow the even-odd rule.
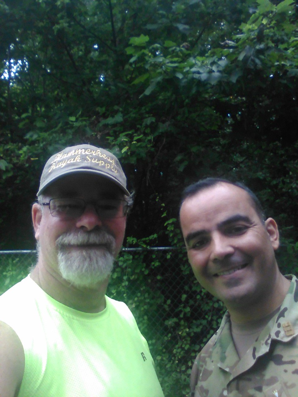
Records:
[[[79,245],[83,247],[79,249]],[[93,247],[85,248],[85,245]],[[75,287],[93,287],[112,273],[115,239],[105,231],[63,233],[56,246],[60,273]]]

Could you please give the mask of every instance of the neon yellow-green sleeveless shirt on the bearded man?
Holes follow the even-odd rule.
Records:
[[[25,351],[19,397],[163,397],[146,340],[123,302],[69,308],[29,276],[0,297]]]

